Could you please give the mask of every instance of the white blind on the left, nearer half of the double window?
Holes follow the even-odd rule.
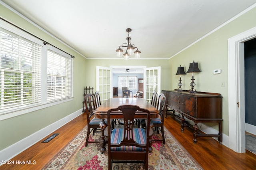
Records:
[[[41,48],[0,28],[0,109],[41,101]]]

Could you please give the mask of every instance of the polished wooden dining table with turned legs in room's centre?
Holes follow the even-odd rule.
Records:
[[[107,119],[108,110],[117,108],[120,105],[137,105],[142,109],[148,109],[150,111],[150,119],[157,118],[158,114],[159,114],[158,109],[156,109],[156,107],[151,105],[144,98],[132,98],[132,97],[131,98],[121,98],[121,97],[117,97],[117,98],[110,98],[106,102],[102,103],[102,105],[100,105],[98,108],[96,108],[94,110],[94,117],[98,118],[98,119],[102,119],[102,122],[99,125],[100,129],[101,129],[101,134],[102,134],[102,139],[100,141],[100,146],[101,146],[100,151],[102,153],[106,151],[105,145],[108,142],[107,140],[105,140],[105,136],[104,136],[104,130],[107,127],[105,119]],[[122,119],[123,118],[121,111],[111,113],[111,115],[114,119]],[[137,111],[135,113],[134,118],[135,119],[146,119],[147,114],[144,113],[144,112]]]

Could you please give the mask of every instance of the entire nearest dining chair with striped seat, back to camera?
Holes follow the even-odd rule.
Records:
[[[148,169],[148,152],[150,147],[150,111],[141,109],[137,105],[120,105],[116,109],[108,110],[108,119],[113,119],[112,112],[121,111],[124,119],[124,128],[110,128],[108,122],[108,169],[112,170],[114,162],[140,162],[144,169]],[[134,128],[136,111],[145,112],[148,127]]]

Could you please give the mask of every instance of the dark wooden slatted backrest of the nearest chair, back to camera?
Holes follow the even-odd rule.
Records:
[[[141,109],[137,105],[121,105],[116,109],[108,110],[108,120],[113,119],[113,117],[111,115],[112,112],[119,111],[119,110],[122,112],[123,119],[124,119],[124,135],[123,135],[122,141],[119,144],[111,143],[111,135],[112,135],[111,134],[111,123],[110,123],[110,121],[108,121],[108,126],[107,126],[108,127],[108,134],[110,134],[110,135],[108,135],[108,150],[114,152],[113,148],[115,148],[115,147],[136,146],[138,148],[144,148],[142,150],[145,151],[146,154],[148,154],[148,148],[149,148],[149,144],[150,144],[149,143],[149,139],[150,139],[150,136],[149,136],[150,111],[148,111],[147,109]],[[145,112],[147,114],[147,119],[146,119],[147,124],[146,125],[148,127],[146,128],[146,141],[145,141],[144,144],[138,144],[138,142],[134,140],[134,136],[133,136],[133,131],[134,131],[133,125],[134,125],[134,121],[135,121],[134,116],[135,116],[136,111]],[[143,128],[140,128],[140,129],[144,130]],[[129,150],[126,150],[125,152],[128,153]],[[136,154],[135,151],[131,150],[130,152],[134,152],[134,154]],[[126,156],[128,156],[128,155],[125,154],[124,157],[126,157]]]

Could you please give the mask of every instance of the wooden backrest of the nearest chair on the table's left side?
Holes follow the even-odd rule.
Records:
[[[94,95],[93,94],[88,93],[84,97],[84,105],[85,105],[85,112],[86,112],[86,117],[87,117],[87,124],[89,125],[90,118],[94,114],[93,111],[95,109],[95,101],[94,101]]]

